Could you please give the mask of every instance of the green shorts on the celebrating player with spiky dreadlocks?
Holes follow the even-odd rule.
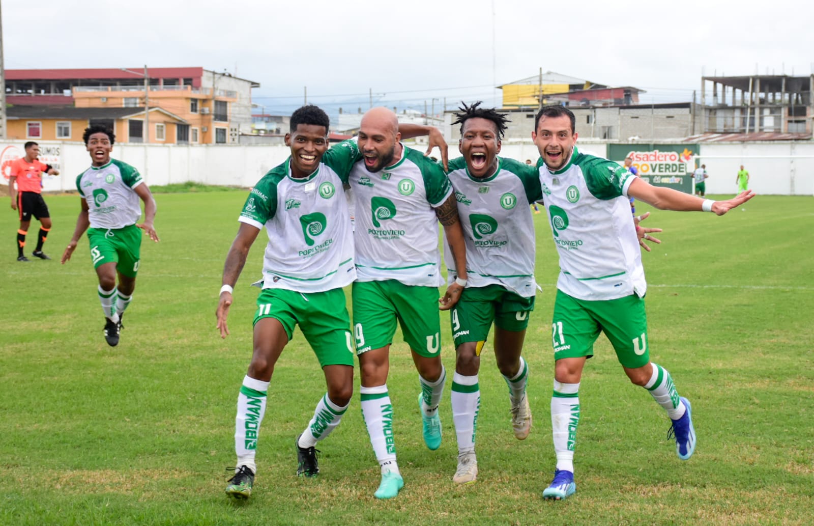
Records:
[[[465,288],[449,317],[455,347],[470,341],[486,341],[492,322],[505,331],[525,331],[532,310],[534,296],[525,298],[501,285]]]

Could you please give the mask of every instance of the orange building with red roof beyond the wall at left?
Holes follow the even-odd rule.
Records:
[[[7,138],[75,141],[102,123],[118,142],[238,142],[259,86],[204,68],[8,69]]]

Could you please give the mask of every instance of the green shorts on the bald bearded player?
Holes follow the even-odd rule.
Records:
[[[393,343],[396,320],[405,342],[423,357],[441,352],[438,289],[395,279],[353,282],[353,335],[357,354]]]

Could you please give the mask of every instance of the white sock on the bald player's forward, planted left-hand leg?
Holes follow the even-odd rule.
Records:
[[[382,474],[385,471],[399,474],[396,463],[396,441],[393,438],[393,405],[387,394],[387,384],[372,388],[361,387],[361,416],[365,420],[370,445]]]

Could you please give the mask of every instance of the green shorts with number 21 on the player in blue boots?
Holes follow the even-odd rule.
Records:
[[[610,340],[623,366],[635,369],[650,362],[643,298],[632,294],[617,300],[587,301],[557,291],[551,324],[555,360],[592,357],[599,331]]]

